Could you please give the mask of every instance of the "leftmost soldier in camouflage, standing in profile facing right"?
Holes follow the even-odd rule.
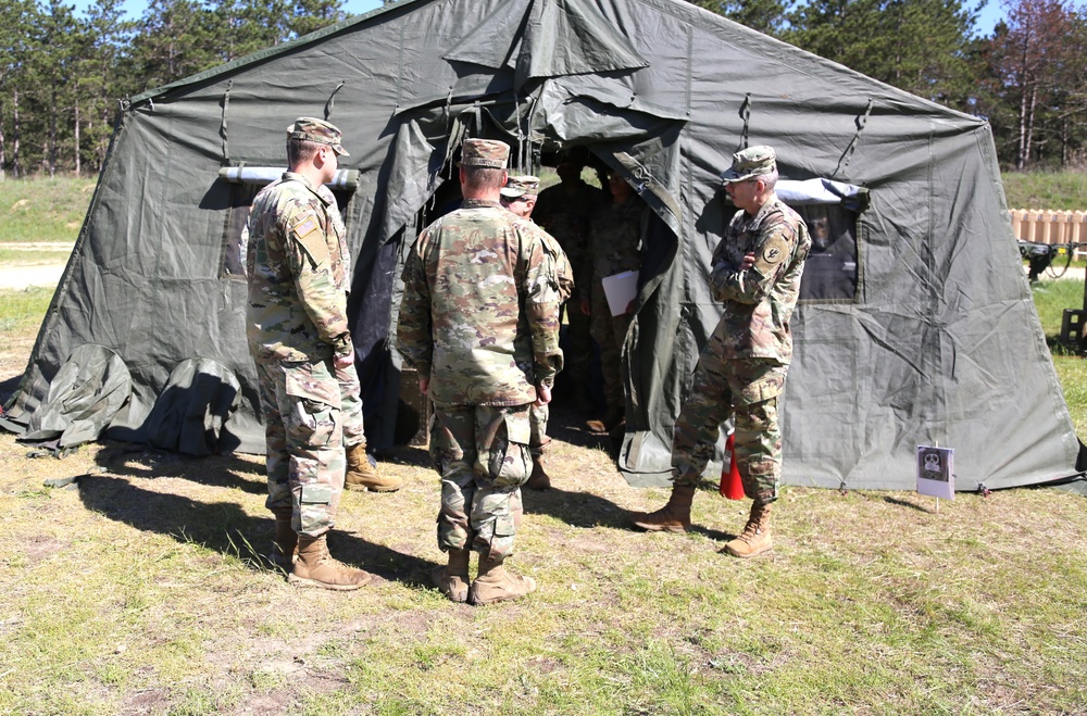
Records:
[[[370,575],[332,558],[326,544],[346,468],[339,376],[354,368],[347,294],[336,277],[341,243],[329,237],[342,221],[324,186],[347,154],[340,139],[321,120],[300,117],[288,128],[290,169],[257,194],[249,215],[246,319],[280,561],[289,565],[297,547],[292,583],[351,590]]]

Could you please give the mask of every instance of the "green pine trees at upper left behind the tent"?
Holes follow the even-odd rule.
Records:
[[[0,2],[0,178],[97,174],[117,100],[346,17],[341,0]]]

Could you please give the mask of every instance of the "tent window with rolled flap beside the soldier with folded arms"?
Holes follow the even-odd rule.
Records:
[[[780,180],[778,197],[803,217],[812,249],[800,279],[801,301],[855,301],[860,276],[857,224],[867,189],[829,179]]]

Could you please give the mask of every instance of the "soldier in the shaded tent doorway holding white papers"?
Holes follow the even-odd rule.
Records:
[[[626,372],[623,370],[623,344],[630,328],[630,313],[613,316],[608,306],[602,279],[641,268],[641,237],[649,223],[649,206],[635,196],[634,188],[612,172],[608,180],[610,204],[592,216],[589,256],[592,284],[582,289],[583,312],[588,309],[590,332],[600,347],[600,367],[604,374],[608,415],[603,422],[590,420],[596,432],[622,431],[626,426]]]

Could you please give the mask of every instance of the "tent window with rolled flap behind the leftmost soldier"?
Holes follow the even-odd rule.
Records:
[[[246,224],[249,222],[249,210],[260,190],[282,177],[284,172],[285,167],[271,166],[227,166],[220,169],[220,178],[230,183],[220,278],[246,279],[246,252],[249,248]],[[339,169],[336,177],[325,186],[332,189],[340,216],[347,224],[347,208],[359,188],[358,169]],[[347,228],[350,233],[350,226]]]

